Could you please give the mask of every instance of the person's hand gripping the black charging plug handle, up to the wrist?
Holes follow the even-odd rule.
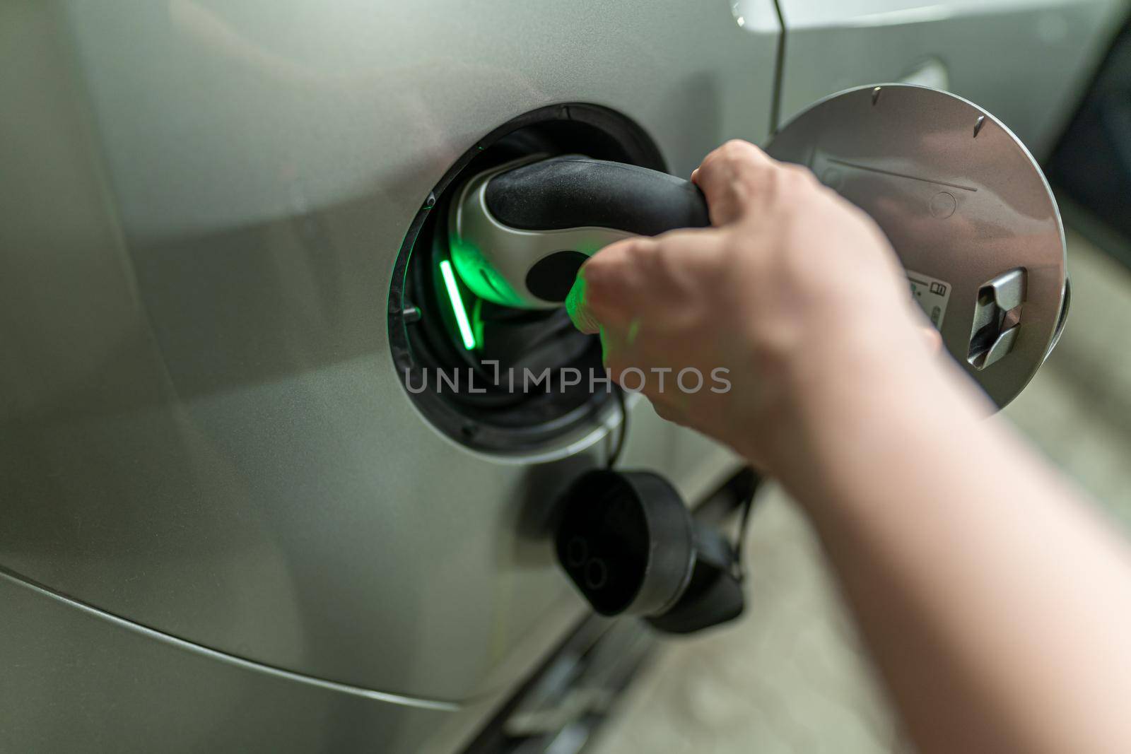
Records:
[[[877,388],[884,361],[925,363],[940,341],[879,227],[809,170],[728,141],[691,179],[713,227],[611,244],[567,307],[615,381],[772,470],[814,392]]]

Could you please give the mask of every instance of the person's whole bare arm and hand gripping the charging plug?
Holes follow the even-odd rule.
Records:
[[[715,228],[610,246],[571,294],[614,378],[729,370],[645,393],[804,506],[921,751],[1131,752],[1126,545],[985,418],[866,218],[742,142],[694,179]]]

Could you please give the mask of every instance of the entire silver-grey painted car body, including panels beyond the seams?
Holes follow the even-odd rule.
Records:
[[[449,165],[587,102],[685,175],[915,76],[1039,157],[1120,11],[5,2],[0,748],[456,751],[585,615],[539,525],[604,439],[493,458],[405,395],[388,288]],[[688,500],[736,468],[632,411]]]

